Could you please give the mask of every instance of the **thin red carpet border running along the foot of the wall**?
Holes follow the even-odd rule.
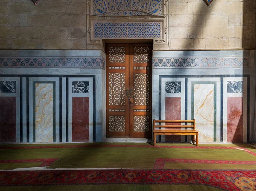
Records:
[[[33,149],[33,148],[75,148],[75,147],[149,147],[149,148],[193,148],[193,149],[239,149],[246,151],[253,156],[256,153],[243,147],[213,147],[213,146],[153,146],[153,145],[56,145],[56,146],[20,146],[20,147],[0,147],[0,149]]]

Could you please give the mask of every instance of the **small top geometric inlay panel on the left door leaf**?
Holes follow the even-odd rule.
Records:
[[[125,63],[125,46],[110,46],[109,47],[109,62],[110,63]]]

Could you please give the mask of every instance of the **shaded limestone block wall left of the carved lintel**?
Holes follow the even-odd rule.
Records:
[[[0,49],[86,49],[84,1],[0,1]]]

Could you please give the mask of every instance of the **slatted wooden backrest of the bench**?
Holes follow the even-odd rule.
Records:
[[[156,125],[156,123],[192,123],[193,125]],[[194,120],[153,120],[153,129],[156,127],[164,128],[193,128],[195,130],[195,119]]]

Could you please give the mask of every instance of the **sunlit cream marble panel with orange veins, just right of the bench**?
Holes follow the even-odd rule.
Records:
[[[214,142],[214,85],[195,84],[192,86],[194,91],[194,102],[192,107],[196,121],[196,129],[199,131],[198,140],[201,143]],[[194,105],[193,105],[194,104]]]

